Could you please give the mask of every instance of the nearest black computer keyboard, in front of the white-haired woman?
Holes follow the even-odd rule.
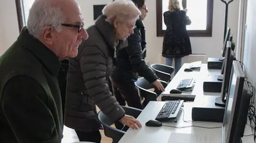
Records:
[[[166,102],[163,105],[161,111],[159,111],[157,118],[155,118],[155,120],[162,122],[166,120],[175,119],[180,111],[180,108],[182,107],[183,102],[184,100],[174,100]]]

